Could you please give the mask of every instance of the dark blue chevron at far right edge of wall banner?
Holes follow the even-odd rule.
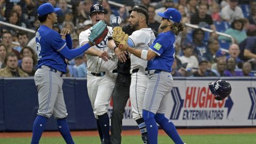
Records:
[[[247,89],[252,100],[252,106],[250,109],[248,119],[256,119],[256,89],[255,87],[248,87]]]

